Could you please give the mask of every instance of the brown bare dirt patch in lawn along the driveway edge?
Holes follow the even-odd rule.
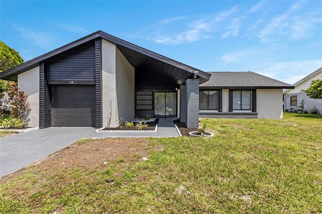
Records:
[[[26,169],[34,172],[52,171],[62,168],[103,168],[104,162],[111,164],[122,160],[131,162],[146,157],[148,140],[144,138],[104,138],[79,141],[61,149],[32,165],[18,170],[0,180],[6,182],[11,177],[23,173]]]

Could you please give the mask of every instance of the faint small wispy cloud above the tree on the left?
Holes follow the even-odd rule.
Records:
[[[31,43],[43,48],[51,48],[52,44],[54,44],[54,41],[56,40],[52,34],[46,32],[34,31],[31,29],[22,28],[18,25],[13,26],[15,30],[22,34],[22,37],[29,39]]]

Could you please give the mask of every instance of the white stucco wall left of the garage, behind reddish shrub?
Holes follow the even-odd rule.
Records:
[[[31,110],[28,111],[24,120],[25,126],[39,126],[39,66],[18,75],[19,88],[28,95]]]

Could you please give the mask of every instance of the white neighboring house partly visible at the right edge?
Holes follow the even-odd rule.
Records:
[[[291,108],[293,108],[293,110],[300,109],[299,106],[303,100],[304,111],[310,111],[310,109],[315,105],[318,110],[318,114],[322,114],[322,99],[312,99],[308,97],[305,92],[301,91],[306,90],[311,85],[312,80],[321,79],[321,76],[322,67],[296,82],[294,84],[295,88],[284,90],[284,111],[290,110]]]

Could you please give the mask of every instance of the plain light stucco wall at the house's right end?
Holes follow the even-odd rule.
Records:
[[[283,118],[283,89],[257,89],[258,118]]]

